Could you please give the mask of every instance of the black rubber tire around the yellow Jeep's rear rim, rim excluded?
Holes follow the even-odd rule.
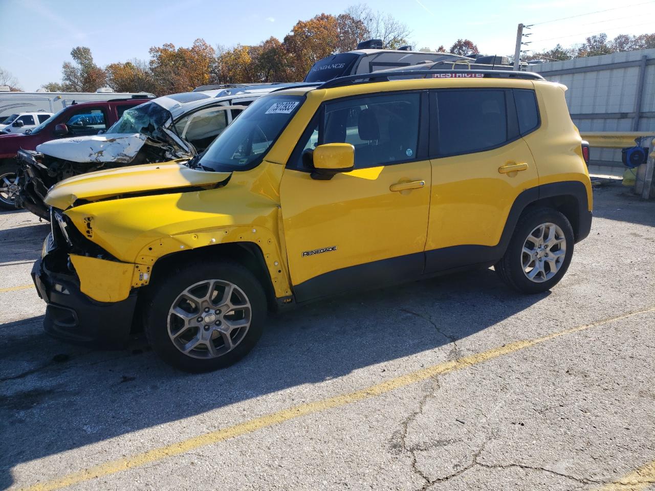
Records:
[[[565,255],[559,269],[552,278],[543,280],[542,282],[534,282],[526,276],[523,270],[523,245],[534,228],[545,223],[553,223],[561,228],[565,238]],[[559,280],[567,272],[573,255],[573,242],[573,228],[565,215],[552,208],[528,209],[519,217],[505,255],[494,266],[494,269],[505,283],[521,293],[542,293],[548,291],[557,285]]]

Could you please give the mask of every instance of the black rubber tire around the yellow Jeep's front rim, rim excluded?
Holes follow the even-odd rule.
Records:
[[[176,347],[168,335],[168,321],[169,310],[178,296],[191,285],[204,280],[223,280],[236,285],[250,302],[251,318],[250,327],[232,350],[217,357],[197,358],[184,354]],[[162,360],[183,371],[201,373],[233,365],[248,354],[261,337],[266,314],[266,295],[250,270],[234,261],[196,261],[180,264],[153,285],[143,319],[145,335]]]

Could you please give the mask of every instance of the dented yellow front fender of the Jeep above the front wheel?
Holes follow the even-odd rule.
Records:
[[[102,200],[65,214],[86,238],[119,261],[149,268],[179,251],[252,243],[263,253],[276,296],[286,297],[291,285],[280,236],[282,170],[263,162],[234,172],[221,188]]]

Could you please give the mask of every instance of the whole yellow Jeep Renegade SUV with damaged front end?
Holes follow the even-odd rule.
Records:
[[[193,160],[62,181],[33,270],[45,329],[109,346],[143,325],[168,363],[207,371],[276,305],[492,265],[552,288],[591,227],[565,86],[430,74],[272,92]]]

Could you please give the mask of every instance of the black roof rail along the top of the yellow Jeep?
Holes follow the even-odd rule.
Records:
[[[523,80],[545,80],[538,73],[530,71],[510,71],[510,70],[398,70],[383,71],[373,73],[362,73],[360,75],[346,75],[336,79],[323,82],[317,88],[338,87],[347,85],[351,82],[388,82],[389,77],[415,77],[416,75],[430,75],[426,78],[485,78],[485,79],[523,79]],[[446,75],[446,76],[444,76]],[[452,75],[452,77],[447,77]],[[472,77],[476,75],[476,77]]]

